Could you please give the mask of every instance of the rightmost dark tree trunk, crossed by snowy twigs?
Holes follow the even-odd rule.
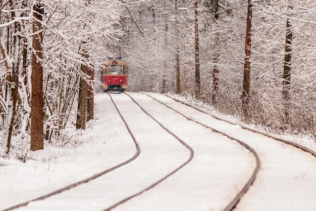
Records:
[[[291,60],[292,60],[292,25],[289,19],[286,20],[285,55],[283,68],[283,99],[285,118],[289,118],[289,90],[291,85]]]

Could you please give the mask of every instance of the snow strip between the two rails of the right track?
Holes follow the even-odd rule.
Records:
[[[316,158],[295,147],[230,126],[160,94],[150,95],[191,118],[236,137],[259,154],[261,169],[234,210],[315,210]]]

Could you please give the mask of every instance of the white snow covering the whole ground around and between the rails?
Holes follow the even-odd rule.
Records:
[[[254,156],[237,142],[188,120],[144,94],[128,94],[192,148],[192,160],[190,150],[127,95],[111,94],[139,144],[139,156],[91,182],[30,202],[20,210],[106,210],[137,193],[142,194],[113,209],[223,210],[227,206],[252,175]],[[315,157],[214,119],[164,95],[147,94],[244,141],[257,151],[260,171],[235,210],[314,210]],[[109,95],[98,94],[95,100],[96,119],[88,122],[87,130],[67,129],[69,136],[82,143],[78,148],[48,145],[44,150],[28,152],[27,157],[32,159],[25,163],[0,160],[0,210],[93,177],[137,153]],[[170,175],[172,172],[175,174]],[[161,183],[142,192],[160,180]]]

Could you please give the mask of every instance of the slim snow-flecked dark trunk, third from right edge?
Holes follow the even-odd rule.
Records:
[[[219,1],[215,0],[214,1],[214,23],[217,24],[217,20],[219,19]],[[212,95],[212,103],[213,105],[217,104],[218,100],[218,85],[219,85],[219,69],[218,69],[218,53],[217,53],[217,45],[218,45],[218,33],[215,33],[215,52],[213,55],[213,62],[214,62],[214,67],[213,67],[213,95]]]

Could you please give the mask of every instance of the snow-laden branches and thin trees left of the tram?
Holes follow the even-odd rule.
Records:
[[[35,20],[32,8],[37,3],[35,0],[0,2],[2,154],[9,151],[10,125],[13,125],[12,136],[19,136],[18,140],[22,138],[24,143],[30,140],[31,55],[36,52],[32,37],[37,34],[32,32]],[[43,126],[45,137],[51,141],[75,118],[79,79],[92,85],[89,75],[80,71],[81,65],[98,69],[113,55],[112,47],[123,34],[120,20],[125,3],[42,0],[41,5],[45,13],[42,21],[37,20],[43,36],[42,58],[38,62],[43,68]],[[83,58],[82,49],[89,54],[89,61]]]

